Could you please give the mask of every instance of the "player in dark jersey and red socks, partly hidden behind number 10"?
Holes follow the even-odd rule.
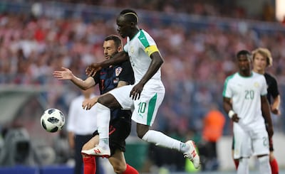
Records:
[[[118,36],[108,36],[103,43],[104,55],[106,59],[110,59],[113,55],[122,50],[122,41]],[[125,61],[120,65],[104,68],[95,77],[88,77],[86,80],[73,75],[71,70],[63,67],[63,71],[53,72],[54,77],[58,80],[71,80],[75,85],[81,89],[88,89],[96,84],[99,84],[100,94],[105,94],[115,87],[122,87],[123,85],[133,84],[133,70],[130,67],[130,61]],[[82,104],[83,108],[90,109],[91,103],[97,102],[96,98]],[[126,164],[124,151],[125,151],[125,138],[130,134],[130,110],[114,109],[112,111],[112,119],[110,121],[110,158],[108,160],[113,165],[115,173],[138,173],[135,168]],[[95,119],[95,118],[94,118]],[[94,120],[89,120],[94,121]],[[108,130],[109,132],[109,130]],[[83,146],[86,148],[94,147],[98,143],[98,136],[94,136]],[[83,154],[84,173],[95,173],[94,156],[86,156]]]

